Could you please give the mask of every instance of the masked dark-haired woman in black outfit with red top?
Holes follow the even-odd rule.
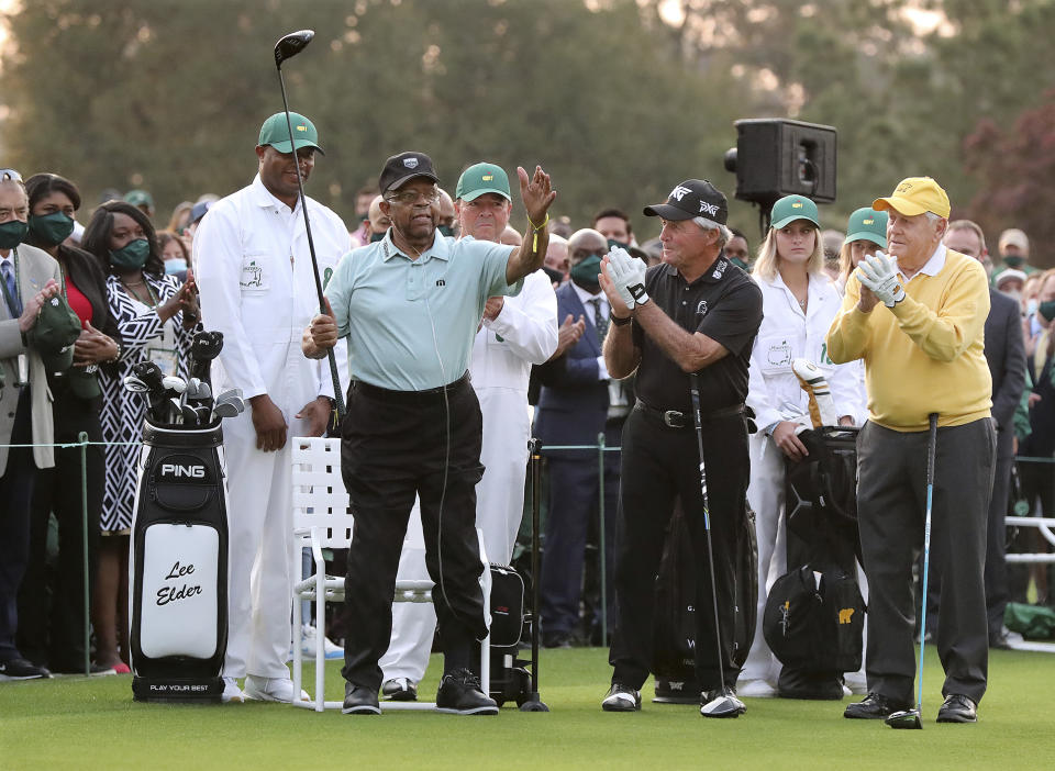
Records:
[[[55,417],[55,442],[75,443],[81,432],[89,442],[102,442],[99,412],[100,367],[113,371],[120,355],[120,334],[107,302],[107,280],[99,264],[65,242],[80,209],[80,192],[68,179],[37,174],[25,180],[30,219],[26,243],[58,261],[62,292],[80,319],[80,338],[74,345],[74,367],[48,372]],[[102,510],[103,451],[89,446],[87,460],[88,560],[93,567]],[[79,480],[80,448],[58,447],[55,468],[40,472],[33,493],[30,562],[19,591],[19,647],[23,655],[54,672],[85,670],[84,517]],[[58,559],[48,591],[46,570],[48,519],[58,523]],[[51,607],[48,607],[48,594]],[[92,671],[104,668],[93,667]]]

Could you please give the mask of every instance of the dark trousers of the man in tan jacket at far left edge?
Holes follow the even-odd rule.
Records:
[[[8,388],[14,388],[8,386]],[[8,444],[33,442],[30,388],[23,387]],[[19,586],[30,552],[30,501],[36,481],[32,447],[8,450],[8,466],[0,476],[0,661],[19,658]]]

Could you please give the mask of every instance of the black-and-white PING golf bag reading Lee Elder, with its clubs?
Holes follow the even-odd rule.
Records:
[[[212,343],[204,347],[215,351],[215,338]],[[192,365],[199,372],[202,367],[208,370],[208,360]],[[173,388],[179,389],[166,387],[169,378],[158,378],[153,366],[137,365],[134,371],[127,390],[152,405],[160,407]],[[190,389],[192,404],[211,402],[207,388]],[[185,384],[184,398],[187,390]],[[233,400],[224,403],[236,406]],[[175,401],[181,409],[201,409]],[[229,414],[237,414],[234,406]],[[136,701],[220,701],[223,694],[227,502],[221,417],[179,423],[152,409],[143,424],[129,562]]]

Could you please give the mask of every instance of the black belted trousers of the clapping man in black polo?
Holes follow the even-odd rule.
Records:
[[[699,450],[693,427],[669,428],[634,410],[623,426],[622,493],[615,532],[615,630],[609,652],[612,682],[640,689],[653,661],[655,582],[664,535],[681,499],[696,556],[696,674],[704,690],[736,683],[733,664],[736,534],[746,516],[751,476],[743,415],[703,424],[708,503],[721,645],[714,634]]]

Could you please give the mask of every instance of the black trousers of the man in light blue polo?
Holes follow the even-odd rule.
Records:
[[[421,501],[425,566],[435,582],[441,648],[469,663],[487,636],[484,572],[476,535],[482,420],[468,377],[446,393],[385,391],[363,383],[348,392],[341,468],[355,526],[348,548],[345,679],[378,690],[378,660],[392,632],[392,597],[407,521]]]

